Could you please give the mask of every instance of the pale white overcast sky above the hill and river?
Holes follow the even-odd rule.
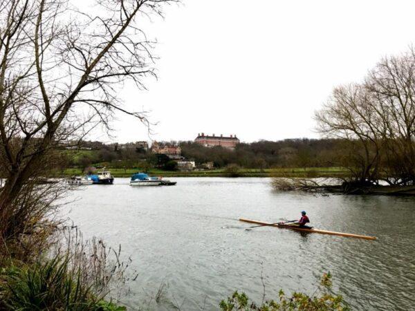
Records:
[[[333,86],[415,42],[414,12],[415,1],[396,0],[183,0],[149,30],[158,81],[122,95],[151,111],[154,140],[316,138],[313,112]],[[145,126],[118,119],[116,141],[149,140]]]

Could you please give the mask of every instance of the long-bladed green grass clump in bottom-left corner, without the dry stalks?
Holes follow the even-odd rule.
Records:
[[[10,310],[126,310],[81,281],[81,270],[72,273],[68,258],[44,263],[3,267],[0,272],[0,308]]]

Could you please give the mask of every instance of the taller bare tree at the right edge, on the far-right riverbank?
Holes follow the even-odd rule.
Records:
[[[415,51],[385,57],[369,72],[365,88],[382,136],[389,182],[415,185]]]

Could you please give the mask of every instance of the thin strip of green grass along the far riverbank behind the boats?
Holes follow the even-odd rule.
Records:
[[[108,168],[114,177],[130,177],[140,169],[112,169]],[[228,177],[226,169],[212,169],[210,171],[163,171],[150,169],[149,175],[163,177]],[[63,176],[82,175],[82,169],[65,169]],[[307,167],[307,168],[279,168],[279,169],[239,169],[239,177],[343,177],[347,170],[341,167]]]

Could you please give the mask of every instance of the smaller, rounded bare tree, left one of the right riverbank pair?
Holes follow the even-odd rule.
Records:
[[[354,181],[377,180],[380,138],[366,89],[359,84],[339,86],[324,107],[315,113],[318,130],[347,142],[339,158]],[[344,161],[345,160],[345,161]],[[346,164],[347,163],[347,164]]]

